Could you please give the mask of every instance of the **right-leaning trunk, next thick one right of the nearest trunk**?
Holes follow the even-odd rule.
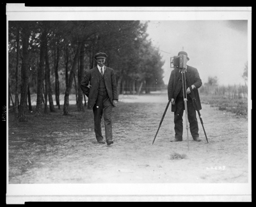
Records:
[[[43,102],[43,75],[45,66],[45,46],[46,46],[46,31],[41,34],[41,47],[40,47],[40,63],[37,75],[37,97],[36,97],[36,116],[42,115],[42,102]]]

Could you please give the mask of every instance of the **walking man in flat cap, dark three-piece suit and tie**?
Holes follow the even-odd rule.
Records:
[[[118,101],[115,72],[105,66],[107,55],[94,56],[97,66],[89,70],[81,82],[83,93],[88,96],[88,109],[93,109],[94,131],[100,144],[113,144],[111,114]],[[104,117],[106,142],[101,134],[101,118]]]

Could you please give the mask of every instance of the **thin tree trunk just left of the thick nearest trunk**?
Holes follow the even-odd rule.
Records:
[[[15,70],[15,103],[13,105],[14,112],[18,113],[18,102],[19,102],[19,40],[20,40],[20,28],[17,28],[17,35],[16,35],[16,43],[17,43],[17,52],[16,52],[16,70]]]

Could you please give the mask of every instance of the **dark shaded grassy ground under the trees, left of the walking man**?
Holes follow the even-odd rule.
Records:
[[[45,155],[58,155],[62,148],[70,151],[70,147],[66,146],[67,142],[78,139],[79,135],[81,137],[81,130],[93,132],[89,111],[85,109],[84,112],[77,112],[76,105],[70,105],[68,116],[63,116],[62,110],[58,109],[48,114],[43,112],[42,116],[35,116],[35,111],[26,110],[26,116],[28,121],[19,122],[17,114],[9,112],[9,178],[15,178],[33,167],[42,167],[40,158]],[[47,162],[51,164],[49,160],[45,160]]]

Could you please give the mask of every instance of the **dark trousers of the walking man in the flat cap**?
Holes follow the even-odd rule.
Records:
[[[96,135],[97,141],[102,141],[102,133],[101,133],[101,118],[102,115],[104,117],[104,125],[105,125],[105,135],[106,140],[112,140],[112,109],[113,105],[111,104],[107,91],[100,92],[97,96],[97,100],[95,105],[93,106],[93,114],[94,114],[94,132]]]

